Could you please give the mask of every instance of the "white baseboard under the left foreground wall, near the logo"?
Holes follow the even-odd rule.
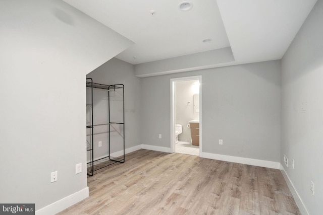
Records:
[[[36,210],[36,215],[51,215],[56,214],[69,206],[72,206],[73,204],[76,204],[77,202],[87,198],[89,196],[89,187],[86,187],[80,191],[77,191],[76,193],[73,193],[69,196],[66,196],[56,202],[53,202],[43,208],[40,208],[39,210]]]

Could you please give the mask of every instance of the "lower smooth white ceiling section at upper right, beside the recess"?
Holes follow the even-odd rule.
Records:
[[[316,0],[218,0],[236,61],[281,59]]]

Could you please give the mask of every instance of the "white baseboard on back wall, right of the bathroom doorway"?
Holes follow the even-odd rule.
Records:
[[[281,166],[279,162],[274,162],[274,161],[264,161],[264,160],[258,160],[258,159],[252,159],[252,158],[241,158],[241,157],[212,154],[212,153],[206,153],[206,152],[202,152],[200,157],[209,158],[213,160],[234,162],[239,164],[253,165],[258,167],[267,167],[267,168],[273,168],[273,169],[280,169],[280,166]]]

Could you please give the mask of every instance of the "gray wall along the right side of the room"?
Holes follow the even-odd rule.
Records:
[[[281,163],[285,154],[289,159],[285,171],[309,214],[323,211],[322,20],[323,1],[319,0],[282,59]]]

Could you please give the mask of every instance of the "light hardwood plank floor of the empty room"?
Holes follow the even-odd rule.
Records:
[[[139,150],[59,214],[301,214],[279,170]]]

